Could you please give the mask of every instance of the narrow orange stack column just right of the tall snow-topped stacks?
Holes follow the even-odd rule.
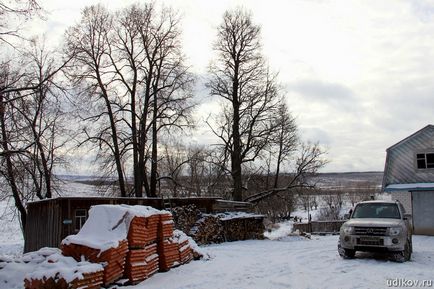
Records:
[[[174,222],[172,214],[160,215],[160,229],[158,232],[158,254],[160,255],[160,270],[168,271],[179,265],[178,244],[172,239]]]

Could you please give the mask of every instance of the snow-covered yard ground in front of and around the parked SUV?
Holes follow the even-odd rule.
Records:
[[[434,237],[415,236],[412,261],[403,264],[366,253],[343,260],[337,254],[337,238],[288,237],[213,245],[208,247],[211,260],[195,261],[127,288],[372,289],[387,288],[388,279],[434,280]]]

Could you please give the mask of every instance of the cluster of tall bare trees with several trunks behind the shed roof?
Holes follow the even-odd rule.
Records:
[[[132,5],[114,15],[91,6],[84,10],[82,23],[69,30],[68,39],[69,51],[77,55],[74,81],[87,86],[85,95],[104,103],[85,120],[110,121],[86,140],[109,148],[122,195],[127,194],[123,187],[129,171],[122,164],[132,158],[134,194],[141,197],[144,189],[156,196],[158,137],[191,125],[193,77],[181,52],[179,16],[153,3]]]

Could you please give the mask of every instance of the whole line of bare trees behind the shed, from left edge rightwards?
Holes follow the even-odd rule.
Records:
[[[22,22],[43,12],[33,0],[5,3],[12,2],[1,1],[0,14]],[[122,197],[289,202],[326,164],[318,144],[301,142],[262,54],[260,26],[243,9],[226,12],[217,28],[206,86],[222,106],[204,121],[218,140],[208,146],[186,137],[195,125],[195,76],[178,12],[154,2],[89,6],[59,51],[10,23],[0,23],[1,48],[8,47],[0,64],[0,173],[23,226],[27,201],[55,196],[55,171],[72,149],[96,155],[98,175],[114,179]]]

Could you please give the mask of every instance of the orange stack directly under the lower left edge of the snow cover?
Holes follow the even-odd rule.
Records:
[[[108,286],[124,275],[125,261],[128,253],[128,241],[119,242],[119,246],[104,252],[77,244],[62,244],[62,254],[80,261],[82,257],[92,263],[104,264],[103,284]]]

